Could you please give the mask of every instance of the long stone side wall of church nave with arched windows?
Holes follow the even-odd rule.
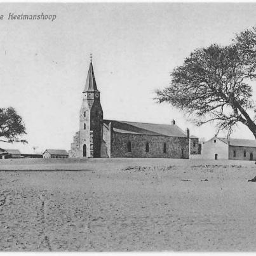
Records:
[[[128,152],[128,142],[131,152]],[[149,152],[145,152],[147,142]],[[163,152],[166,143],[166,153]],[[183,151],[183,154],[182,154]],[[112,158],[189,158],[189,138],[116,133],[111,134]]]

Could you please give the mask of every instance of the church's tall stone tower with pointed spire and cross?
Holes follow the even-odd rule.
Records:
[[[78,157],[100,158],[103,111],[100,104],[100,91],[97,89],[92,62],[90,62],[83,90],[83,102],[79,116]]]

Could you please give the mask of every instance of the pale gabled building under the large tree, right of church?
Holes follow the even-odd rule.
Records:
[[[213,137],[203,143],[201,158],[255,160],[256,140]]]

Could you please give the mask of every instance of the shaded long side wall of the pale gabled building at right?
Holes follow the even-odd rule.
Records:
[[[236,156],[234,156],[236,151]],[[245,152],[245,156],[244,156]],[[250,154],[252,154],[252,160],[256,160],[256,148],[255,147],[236,147],[229,145],[229,159],[232,160],[251,160]]]

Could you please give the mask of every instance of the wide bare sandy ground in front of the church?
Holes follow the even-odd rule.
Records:
[[[250,161],[5,159],[0,170],[2,251],[256,250]]]

